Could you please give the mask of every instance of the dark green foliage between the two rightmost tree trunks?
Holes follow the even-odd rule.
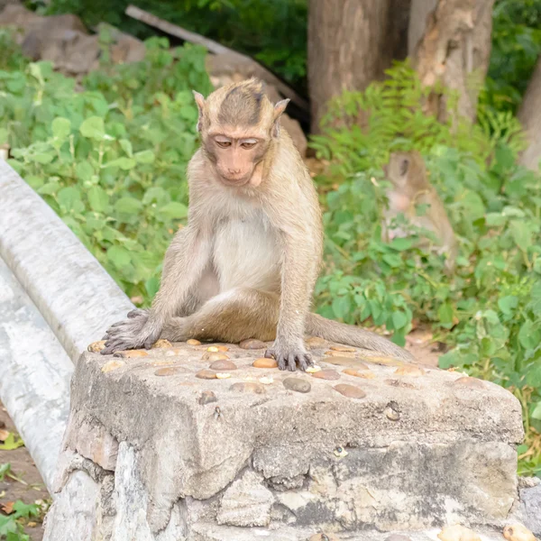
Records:
[[[541,53],[541,0],[497,0],[492,51],[483,101],[515,112]]]

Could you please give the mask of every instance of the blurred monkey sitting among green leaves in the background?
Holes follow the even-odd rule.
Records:
[[[445,207],[436,189],[428,182],[425,161],[417,151],[393,152],[385,168],[392,187],[387,192],[389,208],[384,213],[382,236],[387,242],[397,237],[408,236],[400,227],[390,228],[391,221],[403,214],[411,225],[422,227],[435,234],[437,253],[445,253],[445,270],[454,272],[454,260],[458,244],[453,227],[445,213]],[[417,215],[416,206],[427,205],[424,215]],[[430,239],[423,240],[421,247],[432,248]]]

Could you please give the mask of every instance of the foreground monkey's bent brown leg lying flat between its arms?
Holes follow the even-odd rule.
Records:
[[[188,338],[238,343],[247,338],[269,341],[276,336],[280,300],[274,293],[234,288],[210,298],[195,314],[172,317],[162,338],[184,342]]]

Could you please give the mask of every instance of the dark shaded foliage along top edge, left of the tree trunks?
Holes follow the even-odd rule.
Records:
[[[146,25],[124,15],[128,0],[52,0],[49,14],[78,14],[88,26],[111,23],[144,39]],[[250,54],[289,81],[304,84],[307,0],[142,0],[151,14]]]

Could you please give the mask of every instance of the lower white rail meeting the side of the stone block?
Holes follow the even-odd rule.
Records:
[[[51,492],[73,364],[2,258],[0,367],[0,399]]]

